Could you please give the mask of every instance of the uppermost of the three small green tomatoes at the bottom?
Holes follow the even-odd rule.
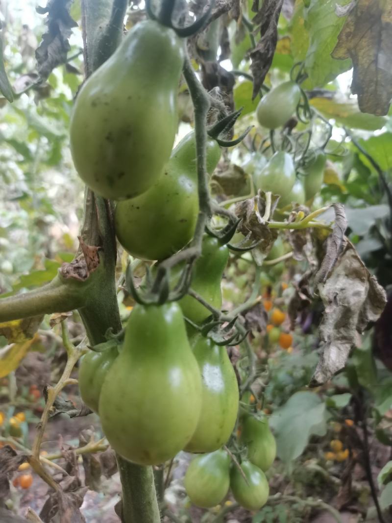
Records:
[[[241,441],[248,448],[248,459],[266,472],[276,457],[276,441],[267,419],[247,416],[243,421]]]

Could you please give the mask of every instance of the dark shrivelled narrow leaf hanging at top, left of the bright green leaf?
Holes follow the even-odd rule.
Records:
[[[261,35],[255,49],[250,53],[252,60],[250,69],[253,75],[253,100],[259,94],[261,84],[264,82],[264,78],[271,67],[276,43],[278,43],[278,20],[282,4],[283,0],[263,0],[260,11],[252,20],[253,24],[260,24]]]

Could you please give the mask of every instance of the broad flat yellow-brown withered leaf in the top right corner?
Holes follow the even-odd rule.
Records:
[[[351,58],[351,90],[362,112],[384,116],[392,98],[392,5],[358,0],[349,13],[332,52],[337,60]]]

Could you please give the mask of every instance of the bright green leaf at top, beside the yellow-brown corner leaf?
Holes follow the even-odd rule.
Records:
[[[345,0],[343,5],[348,3],[349,0]],[[351,60],[333,60],[331,57],[345,20],[345,17],[336,15],[335,9],[335,0],[312,0],[305,12],[305,27],[309,31],[305,69],[315,87],[331,82],[351,67]]]

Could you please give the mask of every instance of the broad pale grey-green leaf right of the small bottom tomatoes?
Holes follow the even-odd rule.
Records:
[[[310,436],[324,436],[327,431],[326,404],[308,391],[296,392],[271,416],[278,456],[285,463],[301,456]]]

